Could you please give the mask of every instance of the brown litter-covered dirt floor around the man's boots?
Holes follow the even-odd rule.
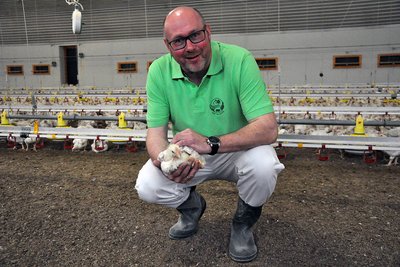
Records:
[[[400,166],[287,152],[254,227],[259,255],[246,265],[400,266]],[[0,266],[240,266],[227,255],[235,186],[198,186],[208,204],[199,232],[170,240],[177,212],[142,202],[133,188],[146,160],[145,151],[0,143]]]

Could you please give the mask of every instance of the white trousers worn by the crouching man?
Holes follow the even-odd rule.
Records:
[[[135,189],[139,198],[176,208],[189,197],[190,187],[220,179],[235,182],[240,198],[250,206],[258,207],[272,195],[277,176],[285,168],[270,145],[204,157],[205,167],[186,184],[169,180],[148,160],[136,180]]]

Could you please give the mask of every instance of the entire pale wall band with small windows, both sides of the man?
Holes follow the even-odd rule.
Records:
[[[254,35],[213,35],[238,44],[255,57],[277,57],[279,70],[262,71],[269,85],[400,83],[400,68],[378,68],[378,54],[400,53],[400,27],[297,31]],[[147,62],[167,52],[161,38],[107,42],[0,47],[0,88],[62,86],[65,72],[60,46],[76,45],[80,87],[144,87]],[[362,55],[362,67],[334,69],[334,55]],[[138,72],[117,73],[118,62],[136,61]],[[33,75],[32,64],[50,64],[50,75]],[[23,76],[6,75],[7,65],[24,65]],[[323,73],[323,77],[320,77]],[[280,76],[280,77],[279,77]]]

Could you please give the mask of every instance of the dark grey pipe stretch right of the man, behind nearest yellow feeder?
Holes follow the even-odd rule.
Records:
[[[312,120],[312,119],[300,119],[300,120],[278,120],[278,124],[305,124],[305,125],[349,125],[354,126],[355,121],[350,120]],[[364,126],[400,126],[400,121],[365,121]]]

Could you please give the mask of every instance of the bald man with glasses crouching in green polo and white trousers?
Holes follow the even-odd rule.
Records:
[[[155,60],[147,78],[147,150],[151,159],[136,181],[141,199],[178,210],[171,239],[187,238],[198,230],[206,209],[196,185],[211,179],[237,184],[239,198],[231,225],[229,255],[238,262],[257,256],[251,227],[274,191],[284,169],[270,146],[277,123],[254,57],[247,50],[211,41],[211,29],[196,9],[177,7],[164,21],[169,54]],[[172,143],[203,154],[198,163],[182,163],[170,175],[157,160]]]

